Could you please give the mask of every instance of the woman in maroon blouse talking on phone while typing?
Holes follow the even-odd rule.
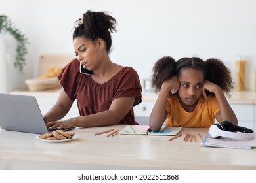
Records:
[[[44,116],[49,129],[137,124],[133,106],[142,101],[139,76],[133,68],[117,65],[109,58],[110,33],[116,31],[115,24],[109,14],[91,10],[75,22],[73,44],[77,58],[58,76],[62,90]],[[79,69],[87,70],[80,73]],[[80,116],[60,121],[75,100]]]

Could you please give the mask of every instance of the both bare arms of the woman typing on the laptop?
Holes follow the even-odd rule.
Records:
[[[112,101],[112,104],[110,105],[109,110],[98,112],[95,114],[91,114],[88,116],[78,116],[75,118],[70,118],[68,120],[62,120],[58,121],[61,115],[60,110],[67,110],[68,107],[70,108],[70,101],[66,100],[66,97],[68,95],[64,90],[61,92],[60,97],[54,105],[54,107],[47,112],[46,117],[48,123],[46,124],[47,127],[50,127],[50,129],[54,129],[58,127],[61,128],[70,128],[70,127],[97,127],[97,126],[107,126],[107,125],[117,125],[121,119],[131,110],[133,107],[133,103],[135,101],[135,97],[122,97],[119,99],[115,99]],[[68,102],[68,105],[64,105],[64,101]],[[71,103],[72,104],[72,103]],[[63,109],[68,106],[66,109]],[[58,114],[54,114],[56,112]],[[64,113],[64,112],[63,112]],[[55,120],[56,119],[56,120]]]

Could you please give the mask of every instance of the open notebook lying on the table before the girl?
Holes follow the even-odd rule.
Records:
[[[177,135],[182,127],[161,127],[160,131],[152,131],[148,125],[127,125],[119,134],[121,135]]]

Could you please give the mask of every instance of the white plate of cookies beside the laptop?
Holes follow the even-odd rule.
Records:
[[[75,135],[74,131],[63,131],[61,129],[55,130],[53,132],[44,133],[37,135],[35,139],[45,142],[67,142],[77,139],[78,135]]]

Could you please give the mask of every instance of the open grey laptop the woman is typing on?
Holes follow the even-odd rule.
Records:
[[[0,127],[9,131],[37,134],[56,130],[47,129],[35,97],[1,93]],[[67,130],[70,129],[64,129]]]

